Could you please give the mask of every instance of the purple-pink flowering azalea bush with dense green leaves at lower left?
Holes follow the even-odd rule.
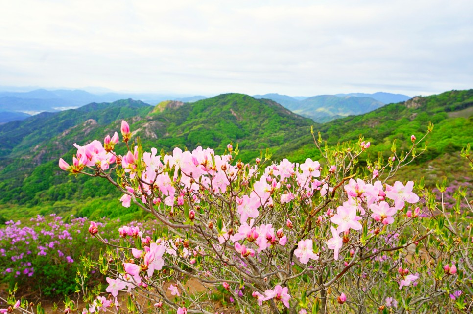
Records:
[[[104,222],[98,224],[107,237],[115,228],[106,228]],[[0,229],[0,282],[10,288],[16,285],[23,293],[34,291],[38,299],[74,293],[81,254],[103,246],[90,239],[88,225],[86,218],[55,214],[38,215],[26,223],[5,222]]]

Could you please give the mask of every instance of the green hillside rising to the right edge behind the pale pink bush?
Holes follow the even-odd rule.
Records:
[[[397,139],[398,151],[407,149],[412,134],[420,138],[431,121],[434,130],[428,135],[427,151],[409,170],[418,176],[430,178],[434,184],[442,176],[454,180],[465,177],[464,161],[459,152],[473,143],[473,90],[450,91],[429,97],[414,97],[405,102],[389,104],[364,115],[350,116],[324,123],[320,131],[330,145],[342,141],[356,141],[360,134],[371,141],[369,151],[376,158],[377,152],[389,156],[392,141]],[[293,146],[288,158],[303,161],[304,156],[319,156],[313,141],[300,141]],[[447,162],[448,161],[448,162]],[[427,168],[427,171],[423,169]],[[405,172],[403,172],[405,173]],[[468,175],[467,175],[468,176]],[[471,181],[471,178],[468,180]]]

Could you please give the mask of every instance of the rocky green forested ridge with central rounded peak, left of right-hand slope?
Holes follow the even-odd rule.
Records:
[[[156,107],[131,99],[90,104],[59,113],[44,113],[0,126],[1,203],[41,204],[61,199],[103,196],[99,180],[67,176],[58,159],[70,160],[72,144],[100,141],[120,122],[129,122],[145,147],[172,151],[176,146],[212,147],[223,153],[237,143],[243,160],[260,156],[271,147],[284,154],[293,138],[309,135],[313,121],[271,100],[225,94],[194,103],[166,101]]]

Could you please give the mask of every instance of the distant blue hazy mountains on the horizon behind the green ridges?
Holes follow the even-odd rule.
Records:
[[[290,97],[279,94],[255,95],[276,101],[285,108],[317,122],[330,121],[349,115],[363,114],[383,106],[386,103],[400,102],[410,97],[399,94],[378,92],[375,94],[339,94],[314,97]],[[74,109],[89,103],[113,102],[119,99],[133,98],[155,105],[163,100],[195,102],[205,96],[177,94],[92,94],[83,90],[46,90],[0,92],[0,123],[22,120],[40,112],[56,112]]]

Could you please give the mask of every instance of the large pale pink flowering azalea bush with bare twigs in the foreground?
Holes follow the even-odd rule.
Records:
[[[231,144],[224,155],[202,147],[158,153],[133,140],[125,121],[123,156],[115,152],[117,132],[103,143],[76,145],[72,164],[61,159],[61,169],[108,180],[123,193],[124,208],[134,204],[160,225],[122,226],[116,243],[90,223],[90,235],[107,250],[84,266],[104,274],[107,284],[78,311],[469,311],[467,192],[460,188],[448,211],[421,178],[390,181],[425,151],[419,147],[432,128],[419,140],[412,136],[409,151],[394,143],[389,159],[364,158],[363,165],[358,157],[370,143],[361,137],[329,148],[314,136],[324,159],[302,164],[270,162],[268,153],[243,163]],[[441,194],[445,189],[438,186]]]

